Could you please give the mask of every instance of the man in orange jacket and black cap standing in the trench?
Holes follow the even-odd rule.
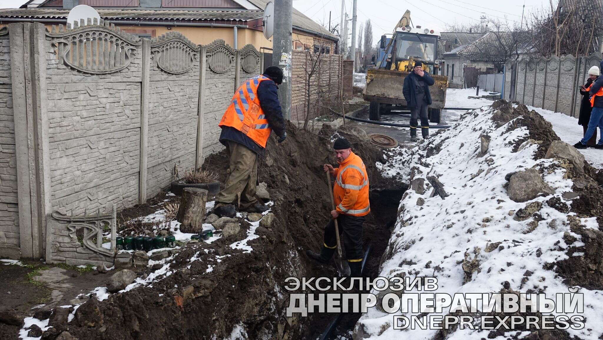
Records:
[[[367,170],[362,159],[352,152],[350,142],[345,138],[338,138],[333,144],[333,149],[339,167],[333,168],[330,164],[323,166],[325,172],[335,177],[333,187],[335,210],[331,211],[331,217],[337,219],[339,233],[343,233],[350,275],[359,277],[362,269],[362,223],[364,223],[364,216],[371,211],[368,203]],[[327,263],[336,248],[335,222],[330,220],[324,228],[324,243],[320,254],[309,249],[306,250],[306,254],[314,260]]]

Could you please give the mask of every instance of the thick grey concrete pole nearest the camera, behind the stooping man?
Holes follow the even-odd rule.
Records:
[[[283,118],[291,118],[291,50],[292,0],[274,0],[274,35],[272,65],[283,69],[283,83],[279,85],[279,101]]]

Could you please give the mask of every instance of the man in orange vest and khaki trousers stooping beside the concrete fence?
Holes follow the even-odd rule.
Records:
[[[213,210],[218,216],[235,217],[239,196],[242,211],[263,213],[268,210],[255,197],[257,156],[264,157],[272,130],[279,136],[279,143],[287,136],[277,94],[277,85],[282,82],[282,69],[270,66],[263,75],[242,83],[218,124],[222,128],[219,141],[230,155],[229,176],[224,189],[216,195]]]

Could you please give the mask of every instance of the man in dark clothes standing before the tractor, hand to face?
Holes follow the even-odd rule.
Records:
[[[427,109],[431,105],[431,93],[429,86],[435,81],[427,72],[423,71],[423,63],[415,62],[411,74],[404,79],[402,94],[406,99],[406,106],[411,109],[411,140],[417,138],[417,118],[421,118],[421,133],[423,138],[429,136],[429,120]]]

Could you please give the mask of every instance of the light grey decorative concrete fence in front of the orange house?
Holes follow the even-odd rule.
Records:
[[[222,149],[219,120],[261,58],[251,45],[140,39],[103,21],[2,28],[0,256],[110,263],[95,233],[115,227],[114,205],[145,202],[174,164]]]

